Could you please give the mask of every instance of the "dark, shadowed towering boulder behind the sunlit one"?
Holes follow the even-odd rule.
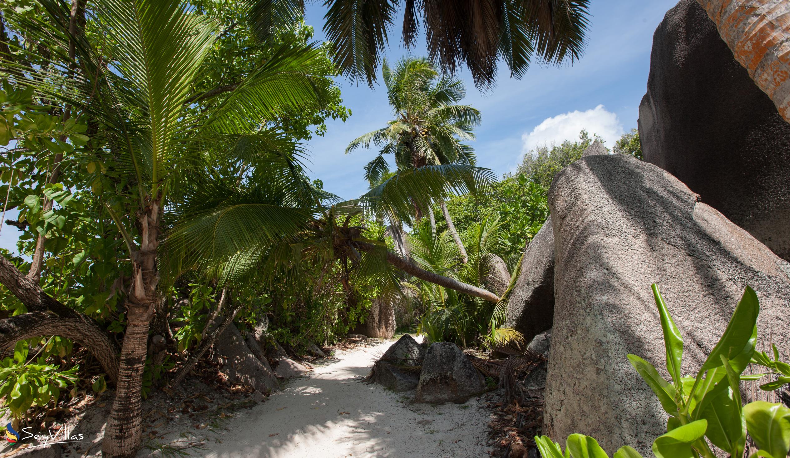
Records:
[[[647,86],[645,161],[790,260],[790,124],[698,2],[681,0],[656,28]]]

